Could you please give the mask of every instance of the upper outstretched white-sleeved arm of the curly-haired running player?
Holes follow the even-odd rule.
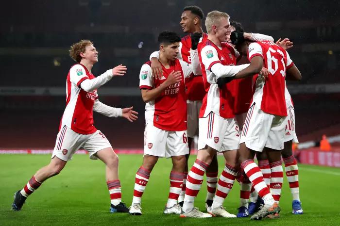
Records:
[[[86,79],[82,81],[82,83],[80,83],[80,87],[86,92],[91,92],[110,81],[113,76],[123,76],[126,73],[126,69],[126,66],[118,65],[94,79]]]

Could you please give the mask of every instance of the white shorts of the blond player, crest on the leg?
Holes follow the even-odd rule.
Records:
[[[239,128],[235,118],[223,118],[213,112],[199,119],[198,150],[205,145],[215,150],[229,151],[239,148]]]

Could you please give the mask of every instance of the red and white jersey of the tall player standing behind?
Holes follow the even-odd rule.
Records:
[[[208,38],[206,33],[202,34],[202,38],[198,45],[204,43]],[[191,64],[190,58],[190,48],[191,48],[191,37],[190,34],[186,35],[182,38],[180,44],[180,54],[179,58],[182,58],[183,61]],[[188,100],[202,100],[205,96],[205,89],[202,76],[190,76],[186,79],[186,90],[187,90],[187,99]]]

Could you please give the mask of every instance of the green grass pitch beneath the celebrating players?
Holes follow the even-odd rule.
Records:
[[[50,161],[48,155],[0,155],[0,225],[339,225],[337,196],[339,168],[299,165],[300,194],[303,215],[291,214],[291,194],[285,178],[280,201],[280,219],[250,221],[249,218],[189,219],[163,214],[169,194],[171,161],[160,159],[151,173],[142,198],[141,216],[109,213],[110,201],[105,183],[105,167],[85,155],[76,155],[56,177],[50,178],[32,194],[21,211],[11,210],[13,194],[22,189],[35,171]],[[190,157],[189,166],[196,156]],[[131,205],[136,170],[141,155],[119,156],[119,178],[122,200]],[[223,169],[219,156],[219,171]],[[205,179],[204,179],[205,180]],[[196,198],[195,206],[204,210],[206,184]],[[224,206],[236,214],[239,185],[236,182]]]

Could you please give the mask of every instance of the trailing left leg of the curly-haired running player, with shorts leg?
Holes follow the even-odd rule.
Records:
[[[26,198],[38,189],[42,182],[60,173],[73,153],[78,150],[80,136],[81,134],[66,126],[58,132],[51,162],[39,169],[24,188],[15,193],[13,210],[21,210]]]

